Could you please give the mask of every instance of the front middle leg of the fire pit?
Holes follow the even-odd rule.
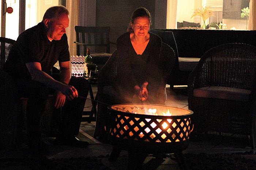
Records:
[[[146,153],[128,151],[128,170],[142,169],[143,162],[146,159]]]

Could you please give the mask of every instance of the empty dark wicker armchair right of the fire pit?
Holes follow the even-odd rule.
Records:
[[[208,50],[188,79],[192,138],[255,143],[256,47],[223,44]],[[234,140],[235,139],[235,140]]]

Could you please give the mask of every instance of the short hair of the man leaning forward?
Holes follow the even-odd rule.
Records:
[[[56,19],[63,14],[66,14],[66,15],[69,14],[68,9],[66,7],[62,5],[50,7],[46,10],[43,17],[43,21],[45,19]]]

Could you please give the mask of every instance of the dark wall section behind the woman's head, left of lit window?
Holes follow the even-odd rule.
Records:
[[[118,36],[126,32],[132,12],[139,7],[150,11],[152,26],[155,27],[156,0],[96,0],[96,26],[110,26],[110,41],[116,42]],[[165,8],[166,10],[166,8]],[[113,52],[116,47],[110,46]]]

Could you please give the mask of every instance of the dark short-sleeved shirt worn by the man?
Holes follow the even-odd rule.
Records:
[[[3,69],[12,77],[31,79],[26,63],[39,62],[42,71],[50,74],[57,61],[69,60],[67,35],[64,34],[60,40],[50,41],[45,25],[41,22],[19,35]]]

